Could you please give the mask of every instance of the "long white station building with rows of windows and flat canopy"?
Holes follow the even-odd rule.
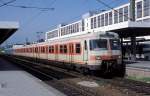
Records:
[[[122,40],[123,38],[149,36],[150,0],[135,0],[135,21],[130,18],[130,10],[130,3],[127,3],[104,12],[86,13],[81,20],[70,24],[60,24],[55,29],[46,32],[45,40],[51,41],[100,31],[116,32]]]

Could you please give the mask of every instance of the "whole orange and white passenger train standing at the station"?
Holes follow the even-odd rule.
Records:
[[[100,70],[103,74],[114,72],[120,76],[125,72],[120,40],[113,32],[86,32],[37,44],[14,46],[13,55],[60,62],[83,72]]]

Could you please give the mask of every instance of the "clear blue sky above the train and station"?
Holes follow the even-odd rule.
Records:
[[[12,0],[0,0],[0,6],[9,1]],[[128,2],[128,0],[102,1],[110,7],[117,7]],[[54,8],[54,10],[8,5]],[[43,32],[41,38],[44,38],[45,32],[56,28],[61,23],[77,21],[88,11],[109,10],[97,0],[16,0],[8,5],[0,7],[0,21],[19,22],[19,29],[6,41],[7,44],[25,43],[26,39],[33,42],[37,40],[37,32]]]

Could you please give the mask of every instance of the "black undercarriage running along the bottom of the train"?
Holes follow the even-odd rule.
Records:
[[[80,66],[79,64],[74,63],[66,63],[66,62],[58,62],[58,61],[52,61],[52,60],[46,60],[46,59],[38,59],[33,57],[25,57],[25,56],[15,56],[22,59],[28,59],[33,62],[38,62],[41,64],[51,64],[56,67],[61,67],[64,69],[67,69],[68,71],[78,71],[84,75],[90,74],[90,75],[98,75],[98,76],[105,76],[105,77],[124,77],[125,75],[125,64],[117,64],[116,60],[109,60],[109,61],[102,61],[101,66],[99,66],[100,70],[90,70],[90,68],[87,67],[87,64],[84,64]]]

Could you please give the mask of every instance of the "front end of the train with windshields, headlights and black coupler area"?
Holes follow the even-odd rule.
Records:
[[[119,36],[113,32],[99,34],[91,39],[90,60],[102,74],[124,76],[125,66],[122,63],[121,43]]]

